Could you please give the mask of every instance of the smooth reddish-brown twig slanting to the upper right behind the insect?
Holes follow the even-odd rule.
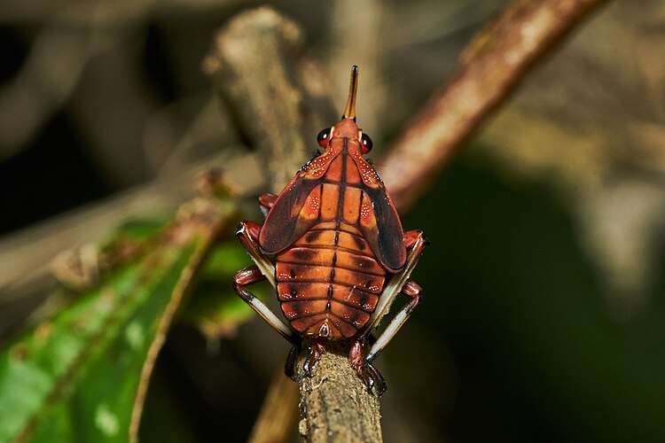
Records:
[[[395,205],[406,208],[545,54],[607,0],[515,0],[473,38],[446,89],[381,159]]]

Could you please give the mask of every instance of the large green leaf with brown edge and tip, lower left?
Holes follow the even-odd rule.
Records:
[[[127,441],[168,325],[232,208],[194,200],[141,258],[0,351],[0,441]]]

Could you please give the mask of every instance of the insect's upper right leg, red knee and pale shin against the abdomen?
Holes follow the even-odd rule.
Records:
[[[416,267],[420,255],[423,253],[426,245],[429,245],[429,241],[423,235],[423,232],[420,230],[411,230],[404,234],[407,248],[409,249],[409,254],[406,257],[406,263],[401,271],[399,271],[395,276],[393,276],[386,284],[386,287],[383,289],[383,293],[379,297],[379,303],[372,313],[370,321],[365,325],[364,336],[375,330],[379,326],[379,322],[384,315],[387,315],[390,307],[392,306],[397,294],[403,290],[404,285],[406,284],[413,268]],[[379,340],[377,340],[379,341]],[[376,343],[373,347],[376,346]]]

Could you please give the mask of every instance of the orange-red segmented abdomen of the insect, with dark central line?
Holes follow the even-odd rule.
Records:
[[[328,187],[342,188],[341,195],[349,190],[336,184],[323,186],[323,195]],[[347,196],[336,206],[344,206],[345,199],[347,205],[357,205],[357,198],[352,202]],[[318,223],[276,257],[278,299],[293,329],[303,335],[331,340],[355,336],[383,291],[386,268],[361,232],[345,221],[348,217]]]

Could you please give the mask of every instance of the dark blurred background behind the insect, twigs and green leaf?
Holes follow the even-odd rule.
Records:
[[[304,27],[302,57],[340,108],[361,67],[380,174],[382,149],[507,2],[270,4]],[[215,29],[257,5],[0,4],[2,336],[43,301],[57,253],[168,211],[202,164],[242,155],[200,65]],[[665,440],[662,48],[661,1],[601,9],[404,214],[432,245],[414,273],[422,307],[379,359],[388,442]],[[212,349],[174,328],[145,441],[246,439],[287,350],[259,322]]]

